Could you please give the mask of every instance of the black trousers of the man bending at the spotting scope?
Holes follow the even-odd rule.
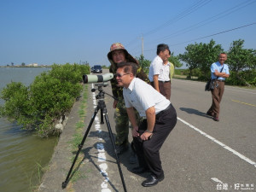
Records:
[[[148,168],[156,177],[164,174],[160,160],[160,148],[177,123],[176,110],[172,104],[170,105],[170,108],[156,115],[153,136],[148,141],[142,141],[140,137],[133,137],[139,166]],[[138,128],[140,135],[147,128],[147,119],[144,119]]]

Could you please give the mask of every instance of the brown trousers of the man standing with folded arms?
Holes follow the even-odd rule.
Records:
[[[211,108],[208,109],[208,113],[213,113],[215,117],[218,117],[219,115],[219,110],[220,110],[220,102],[222,99],[222,96],[224,94],[224,82],[221,81],[215,81],[214,82],[215,86],[214,89],[211,90],[212,93],[212,106]],[[216,87],[216,84],[218,86]]]

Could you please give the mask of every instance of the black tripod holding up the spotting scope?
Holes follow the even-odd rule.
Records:
[[[73,160],[73,164],[70,167],[70,170],[69,170],[69,172],[67,174],[67,178],[62,183],[62,189],[67,187],[67,183],[69,181],[70,174],[73,171],[73,166],[75,165],[75,162],[76,162],[76,160],[79,157],[80,150],[83,148],[84,141],[85,141],[85,139],[86,139],[86,137],[87,137],[87,135],[88,135],[88,133],[90,131],[90,127],[91,127],[91,125],[92,125],[92,123],[93,123],[93,121],[94,121],[94,119],[96,117],[96,113],[98,113],[99,109],[101,109],[101,124],[104,124],[104,121],[103,121],[103,115],[104,115],[106,123],[107,123],[107,126],[108,126],[109,137],[110,137],[110,140],[111,140],[111,143],[112,143],[112,146],[113,146],[113,150],[114,150],[114,154],[115,154],[115,157],[116,157],[116,161],[117,161],[117,164],[118,164],[118,167],[119,167],[119,174],[120,174],[120,177],[121,177],[121,180],[122,180],[122,183],[123,183],[124,190],[126,192],[127,190],[126,190],[126,186],[125,186],[125,180],[124,180],[123,172],[121,170],[121,166],[120,166],[120,162],[119,162],[119,155],[117,154],[117,151],[116,151],[116,148],[115,148],[115,144],[114,144],[114,140],[113,140],[113,133],[111,131],[111,127],[110,127],[109,120],[108,120],[108,112],[107,112],[106,104],[104,102],[104,94],[108,95],[108,93],[104,92],[104,90],[102,89],[102,86],[107,86],[107,85],[106,84],[96,84],[96,86],[98,86],[98,90],[99,90],[99,93],[96,96],[96,99],[98,100],[98,104],[97,104],[97,107],[95,109],[95,112],[94,112],[92,118],[90,119],[90,124],[88,125],[88,128],[87,128],[87,130],[84,133],[83,140],[79,144],[79,150],[78,150],[78,152],[77,152],[77,154],[75,156],[75,159]],[[96,89],[92,89],[91,91],[94,92],[94,91],[96,91]],[[108,96],[110,96],[110,95],[108,95]]]

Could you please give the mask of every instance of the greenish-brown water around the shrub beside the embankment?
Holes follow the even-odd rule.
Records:
[[[46,67],[0,67],[0,91],[12,81],[28,86]],[[3,105],[3,100],[0,101]],[[47,166],[56,137],[40,138],[32,131],[20,130],[20,125],[0,118],[0,190],[27,192],[37,189]]]

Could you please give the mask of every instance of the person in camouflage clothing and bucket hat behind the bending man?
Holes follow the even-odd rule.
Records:
[[[133,58],[125,49],[123,44],[114,43],[110,47],[108,52],[108,61],[111,65],[109,67],[109,73],[115,74],[117,71],[117,64],[120,62],[134,62],[137,64],[137,78],[148,81],[147,74],[143,72],[142,67],[139,67],[138,61]],[[128,135],[129,135],[129,118],[125,108],[125,101],[123,97],[123,88],[117,86],[117,80],[115,78],[110,80],[112,85],[113,96],[118,98],[113,102],[113,108],[115,108],[114,120],[116,130],[116,149],[118,154],[124,153],[129,148]],[[137,114],[137,121],[139,122],[139,115]],[[130,163],[136,163],[137,157],[134,153],[134,148],[131,143],[132,154],[130,157]]]

